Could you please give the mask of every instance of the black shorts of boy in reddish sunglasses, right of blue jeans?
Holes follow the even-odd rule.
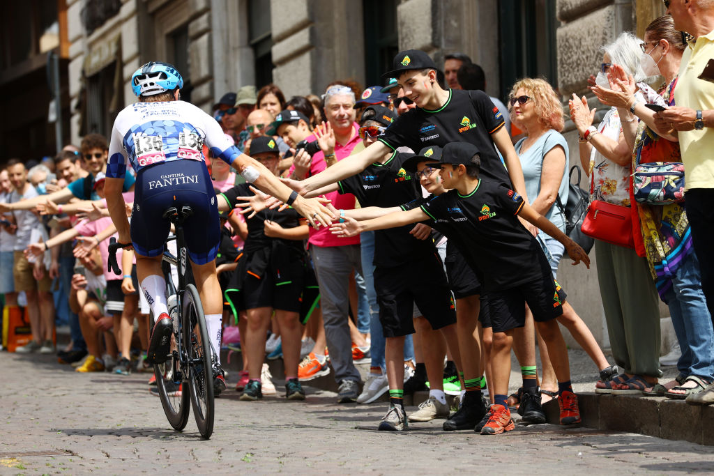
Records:
[[[414,333],[414,303],[435,330],[456,323],[451,290],[436,251],[401,266],[377,266],[374,290],[384,337]]]

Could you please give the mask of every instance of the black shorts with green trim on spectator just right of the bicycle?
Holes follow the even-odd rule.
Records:
[[[304,251],[276,244],[243,252],[225,296],[234,310],[273,308],[299,313],[304,286]]]

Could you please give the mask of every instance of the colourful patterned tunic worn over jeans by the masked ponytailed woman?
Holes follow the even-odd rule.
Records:
[[[675,78],[660,92],[669,106],[675,105],[676,84]],[[637,163],[681,162],[682,154],[679,143],[661,138],[640,121],[632,160],[634,169]],[[634,197],[633,203],[637,204],[633,226],[637,226],[639,221],[650,273],[660,298],[666,303],[663,296],[672,287],[672,277],[693,250],[687,213],[680,203],[645,205],[635,202]]]

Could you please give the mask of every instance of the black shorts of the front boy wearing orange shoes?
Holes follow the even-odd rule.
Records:
[[[506,332],[525,325],[526,304],[533,313],[533,320],[543,323],[563,315],[563,303],[565,291],[548,272],[542,279],[514,288],[488,291],[481,298],[481,315],[485,314],[486,319],[491,320],[493,332]]]

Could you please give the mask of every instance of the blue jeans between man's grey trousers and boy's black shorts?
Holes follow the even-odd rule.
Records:
[[[386,373],[384,333],[382,331],[382,324],[379,322],[379,305],[377,304],[377,293],[374,290],[374,232],[366,231],[362,233],[360,235],[360,245],[362,253],[362,275],[364,276],[367,288],[370,314],[370,365],[371,367],[379,367],[383,373]],[[414,344],[411,335],[407,335],[404,339],[404,360],[414,360]]]

